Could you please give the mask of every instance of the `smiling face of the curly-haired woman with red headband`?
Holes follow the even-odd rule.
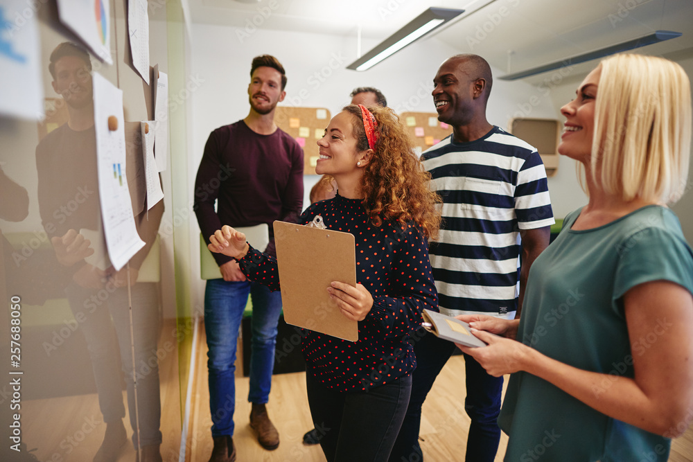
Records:
[[[356,149],[357,139],[354,135],[355,118],[349,112],[340,112],[332,118],[325,129],[322,139],[317,141],[320,157],[317,159],[315,172],[318,175],[349,175],[359,172],[356,162],[359,152]]]

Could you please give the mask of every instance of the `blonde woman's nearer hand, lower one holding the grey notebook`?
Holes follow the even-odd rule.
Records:
[[[503,320],[501,319],[500,321]],[[462,350],[462,353],[466,353],[476,359],[490,375],[500,377],[501,375],[525,370],[525,364],[529,361],[529,355],[534,351],[532,348],[519,341],[496,337],[483,330],[472,329],[472,333],[488,345],[478,348],[460,344],[455,345]]]

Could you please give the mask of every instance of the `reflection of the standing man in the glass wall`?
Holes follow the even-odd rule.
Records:
[[[98,197],[91,61],[86,51],[66,42],[51,53],[49,71],[53,89],[67,103],[69,120],[46,135],[36,148],[42,224],[51,238],[65,236],[73,230],[69,233],[71,238],[95,236],[91,238],[94,245],[96,240],[103,242],[104,238]],[[160,202],[152,208],[148,220],[146,212],[136,217],[146,246],[130,260],[129,277],[127,269],[115,272],[107,258],[103,255],[98,258],[98,252],[65,268],[72,275],[65,292],[87,341],[99,407],[107,424],[94,462],[115,461],[127,441],[121,368],[127,377],[134,447],[141,447],[142,461],[161,461],[157,290],[154,283],[136,282],[139,267],[156,237],[162,211]],[[128,285],[132,286],[134,365]],[[137,403],[133,369],[137,377]]]

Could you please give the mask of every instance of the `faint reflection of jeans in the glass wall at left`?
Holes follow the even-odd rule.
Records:
[[[103,421],[116,423],[125,417],[121,388],[124,373],[133,429],[137,429],[139,420],[139,441],[137,431],[132,434],[132,444],[137,447],[161,443],[157,358],[160,316],[155,283],[137,283],[131,287],[131,292],[137,402],[132,378],[128,288],[116,289],[109,283],[101,290],[94,290],[71,283],[65,290],[73,315],[87,341]]]

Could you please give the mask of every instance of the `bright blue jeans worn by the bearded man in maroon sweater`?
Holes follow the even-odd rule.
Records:
[[[209,347],[207,369],[212,436],[234,435],[236,345],[248,294],[253,302],[248,401],[263,404],[270,396],[281,292],[270,292],[264,285],[250,281],[207,281],[204,330]]]

